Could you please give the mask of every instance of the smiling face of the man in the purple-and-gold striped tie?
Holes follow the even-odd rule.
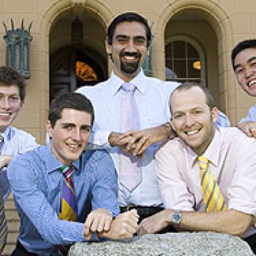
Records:
[[[89,140],[91,121],[89,113],[75,109],[63,109],[54,127],[47,121],[51,151],[61,163],[68,165],[79,159]]]

